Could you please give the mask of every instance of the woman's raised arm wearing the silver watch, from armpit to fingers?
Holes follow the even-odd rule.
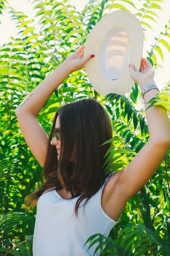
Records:
[[[143,57],[140,72],[136,72],[133,65],[130,64],[130,75],[139,84],[141,90],[145,86],[155,83],[154,69],[150,62]],[[159,93],[157,89],[144,93],[145,109],[150,105],[147,102],[157,93]],[[146,110],[146,118],[150,134],[149,141],[125,168],[116,172],[106,183],[107,196],[104,207],[109,216],[116,221],[118,221],[127,201],[136,195],[153,176],[170,148],[170,120],[167,111],[160,105],[154,105]]]

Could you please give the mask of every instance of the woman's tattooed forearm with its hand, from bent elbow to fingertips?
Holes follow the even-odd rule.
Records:
[[[31,113],[38,116],[54,90],[62,84],[70,73],[84,67],[85,62],[91,58],[91,55],[82,58],[84,47],[85,45],[82,45],[76,52],[69,55],[59,67],[38,84],[16,108],[15,113]]]

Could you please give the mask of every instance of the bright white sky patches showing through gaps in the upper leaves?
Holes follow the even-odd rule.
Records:
[[[89,0],[70,0],[69,1],[71,5],[74,5],[77,11],[81,12],[82,9],[85,7],[85,4],[89,2]],[[27,0],[8,0],[8,3],[11,7],[15,9],[15,11],[21,11],[24,12],[28,17],[34,18],[36,11],[32,9],[31,3]],[[108,1],[109,3],[109,1]],[[123,3],[123,2],[122,2]],[[142,8],[142,4],[146,3],[144,0],[133,0],[133,3],[136,5],[137,8]],[[154,29],[152,32],[149,29],[149,32],[146,32],[146,42],[144,41],[144,49],[143,49],[143,56],[147,57],[147,51],[150,51],[151,45],[155,44],[155,36],[159,37],[159,34],[161,31],[164,31],[164,24],[168,24],[168,21],[170,19],[170,0],[164,0],[164,3],[159,3],[162,6],[163,11],[156,10],[156,14],[159,16],[158,24],[154,23],[152,20],[144,20],[145,22],[148,22]],[[125,3],[126,5],[126,3]],[[126,7],[131,11],[134,9],[131,9],[130,5],[127,4]],[[132,7],[133,8],[133,7]],[[114,11],[115,9],[113,9]],[[154,11],[154,10],[152,10]],[[136,13],[136,11],[132,11],[132,13]],[[136,16],[140,18],[139,16]],[[154,16],[156,18],[156,16]],[[37,18],[34,18],[36,22]],[[11,41],[11,36],[18,37],[17,36],[17,28],[15,28],[15,20],[10,20],[10,15],[7,14],[7,12],[4,10],[3,15],[0,15],[0,46],[2,46],[5,43],[8,43]],[[137,35],[136,35],[137,36]],[[170,38],[168,38],[168,43],[170,44]],[[162,89],[164,85],[170,81],[170,52],[164,47],[162,44],[159,44],[161,47],[163,54],[164,54],[164,63],[162,64],[161,57],[156,52],[156,57],[159,65],[161,67],[158,67],[156,69],[156,75],[155,75],[155,81],[158,85],[159,89]]]

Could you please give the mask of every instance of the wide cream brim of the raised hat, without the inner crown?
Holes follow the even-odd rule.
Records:
[[[134,84],[130,77],[130,68],[127,65],[125,73],[118,79],[111,81],[107,79],[100,66],[100,51],[104,39],[114,29],[124,29],[129,37],[131,45],[130,62],[135,70],[139,71],[143,53],[143,30],[139,20],[130,12],[118,10],[111,12],[100,20],[85,42],[84,57],[94,54],[95,57],[85,63],[85,70],[94,89],[106,96],[108,93],[124,95]]]

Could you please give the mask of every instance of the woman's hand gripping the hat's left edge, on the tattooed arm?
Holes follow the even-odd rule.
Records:
[[[84,48],[85,44],[83,44],[76,52],[71,53],[71,55],[63,61],[63,64],[66,64],[69,67],[71,73],[84,68],[85,62],[94,57],[93,54],[89,54],[87,57],[83,58]]]

